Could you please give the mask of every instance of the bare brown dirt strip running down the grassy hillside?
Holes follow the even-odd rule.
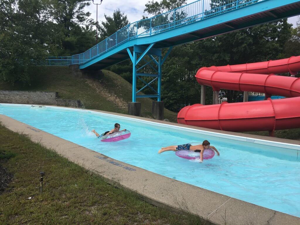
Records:
[[[114,104],[117,105],[122,110],[127,110],[128,107],[128,102],[124,101],[122,98],[118,98],[117,95],[113,93],[111,90],[107,90],[106,88],[103,87],[102,85],[102,80],[98,79],[85,79],[85,82],[90,85],[94,90],[96,91],[97,94],[101,98],[106,98],[108,101],[113,102]]]

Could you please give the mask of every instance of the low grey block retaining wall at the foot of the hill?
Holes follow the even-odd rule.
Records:
[[[79,100],[60,99],[58,92],[52,91],[3,91],[0,90],[0,103],[43,104],[80,107]]]

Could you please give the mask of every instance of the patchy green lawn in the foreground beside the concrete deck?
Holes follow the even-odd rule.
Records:
[[[0,224],[208,224],[191,214],[158,208],[133,192],[107,184],[100,176],[2,125],[0,153],[12,156],[0,163],[14,174],[0,195]],[[42,194],[40,171],[45,172]]]

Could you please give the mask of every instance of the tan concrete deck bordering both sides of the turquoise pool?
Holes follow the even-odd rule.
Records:
[[[84,109],[83,109],[84,110]],[[100,110],[90,110],[109,113],[118,116],[131,117],[146,121],[177,125],[204,131],[213,131],[223,134],[240,135],[262,140],[300,144],[300,141],[279,139],[274,137],[261,137],[250,134],[216,131],[205,128],[180,125],[119,113],[110,113]],[[132,190],[143,198],[158,206],[168,206],[173,210],[188,211],[197,214],[214,224],[258,224],[258,225],[299,225],[300,218],[248,202],[244,202],[226,195],[215,193],[200,187],[186,184],[159,174],[132,166],[130,164],[109,158],[93,150],[79,146],[75,143],[56,137],[37,128],[16,121],[10,117],[0,115],[2,125],[14,132],[26,134],[32,141],[39,142],[48,149],[53,149],[61,156],[91,170],[111,184]],[[195,197],[195,196],[199,196]]]

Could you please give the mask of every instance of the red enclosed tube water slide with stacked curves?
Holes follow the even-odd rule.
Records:
[[[221,88],[254,91],[266,96],[288,98],[215,105],[195,104],[182,108],[177,121],[181,124],[224,131],[270,131],[300,128],[300,79],[277,76],[295,75],[300,71],[300,56],[239,65],[202,67],[196,73],[201,85],[214,91]],[[293,97],[293,98],[292,98]]]

